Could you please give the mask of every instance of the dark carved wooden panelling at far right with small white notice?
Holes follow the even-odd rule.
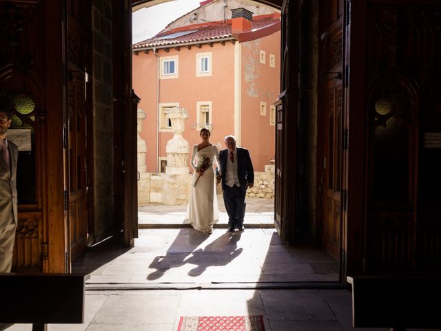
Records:
[[[439,273],[441,8],[367,13],[366,269]]]

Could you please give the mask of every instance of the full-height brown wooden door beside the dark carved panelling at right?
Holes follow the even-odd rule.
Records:
[[[343,166],[343,1],[320,7],[318,187],[319,237],[327,252],[340,261]]]

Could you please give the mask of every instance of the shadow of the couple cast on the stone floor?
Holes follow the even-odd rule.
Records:
[[[165,255],[155,257],[149,268],[156,269],[147,275],[147,280],[154,281],[163,277],[167,270],[179,268],[185,264],[195,265],[188,275],[198,277],[208,267],[227,265],[242,253],[238,248],[242,232],[226,232],[203,248],[199,246],[215,234],[205,234],[193,229],[181,229]]]

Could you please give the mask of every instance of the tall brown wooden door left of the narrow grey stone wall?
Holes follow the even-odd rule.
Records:
[[[90,152],[86,139],[90,132],[92,93],[88,83],[88,70],[92,68],[90,45],[91,18],[83,17],[83,10],[91,7],[89,0],[65,1],[63,6],[65,28],[65,98],[63,109],[64,194],[65,194],[65,271],[70,272],[74,259],[88,246],[88,230],[93,219],[88,219],[88,159]],[[89,124],[89,125],[88,125]],[[88,132],[89,131],[89,132]],[[92,204],[93,208],[93,204]]]

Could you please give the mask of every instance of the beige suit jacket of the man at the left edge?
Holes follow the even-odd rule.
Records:
[[[17,224],[17,159],[19,149],[8,140],[10,170],[3,157],[0,156],[0,228],[8,225],[11,212]]]

